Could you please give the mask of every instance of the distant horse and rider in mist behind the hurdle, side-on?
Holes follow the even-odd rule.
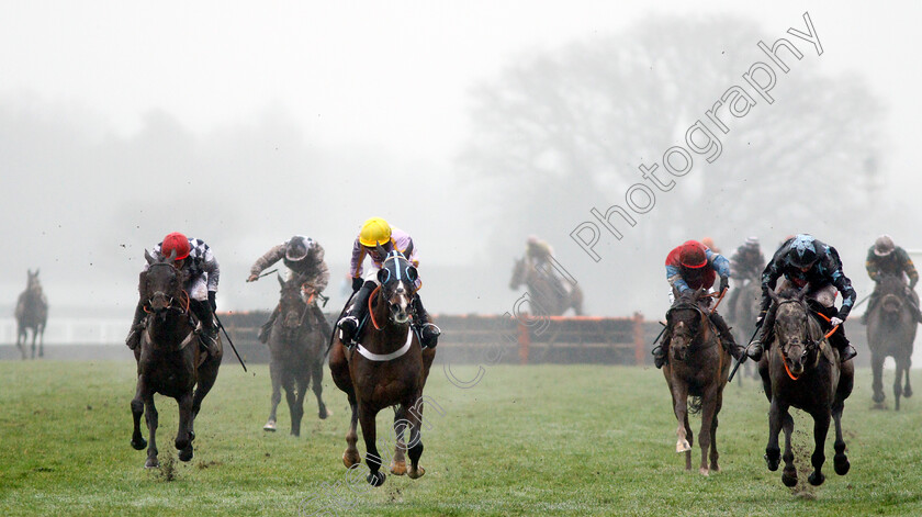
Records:
[[[583,291],[575,280],[561,279],[553,258],[553,249],[537,237],[529,237],[526,254],[516,260],[509,289],[525,284],[530,295],[531,312],[560,316],[569,310],[577,316],[583,314]],[[569,276],[569,273],[564,273]]]

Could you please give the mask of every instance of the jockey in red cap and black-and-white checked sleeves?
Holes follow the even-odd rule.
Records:
[[[179,232],[173,232],[164,237],[164,241],[154,247],[151,256],[156,260],[161,260],[173,252],[176,252],[175,266],[187,273],[183,290],[189,293],[189,307],[202,324],[200,341],[210,355],[216,356],[220,350],[217,348],[217,323],[214,318],[214,310],[217,308],[215,295],[217,294],[217,281],[221,276],[217,260],[215,260],[209,245],[203,240],[188,238]],[[147,271],[148,267],[145,263],[144,271]],[[140,333],[144,330],[140,321],[145,315],[144,305],[146,302],[146,300],[137,302],[132,328],[125,339],[125,345],[132,350],[137,348],[138,342],[140,342]]]

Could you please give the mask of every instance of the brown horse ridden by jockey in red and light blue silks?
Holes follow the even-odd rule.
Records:
[[[675,451],[685,452],[685,470],[692,470],[692,426],[688,425],[688,396],[693,396],[692,412],[701,413],[701,431],[698,445],[704,475],[718,472],[717,415],[723,405],[723,386],[730,373],[730,355],[723,349],[717,329],[708,317],[709,308],[701,301],[702,290],[686,291],[666,313],[666,331],[670,333],[670,361],[663,366],[663,375],[670,386],[673,412],[678,422]],[[710,452],[710,467],[708,465]]]

